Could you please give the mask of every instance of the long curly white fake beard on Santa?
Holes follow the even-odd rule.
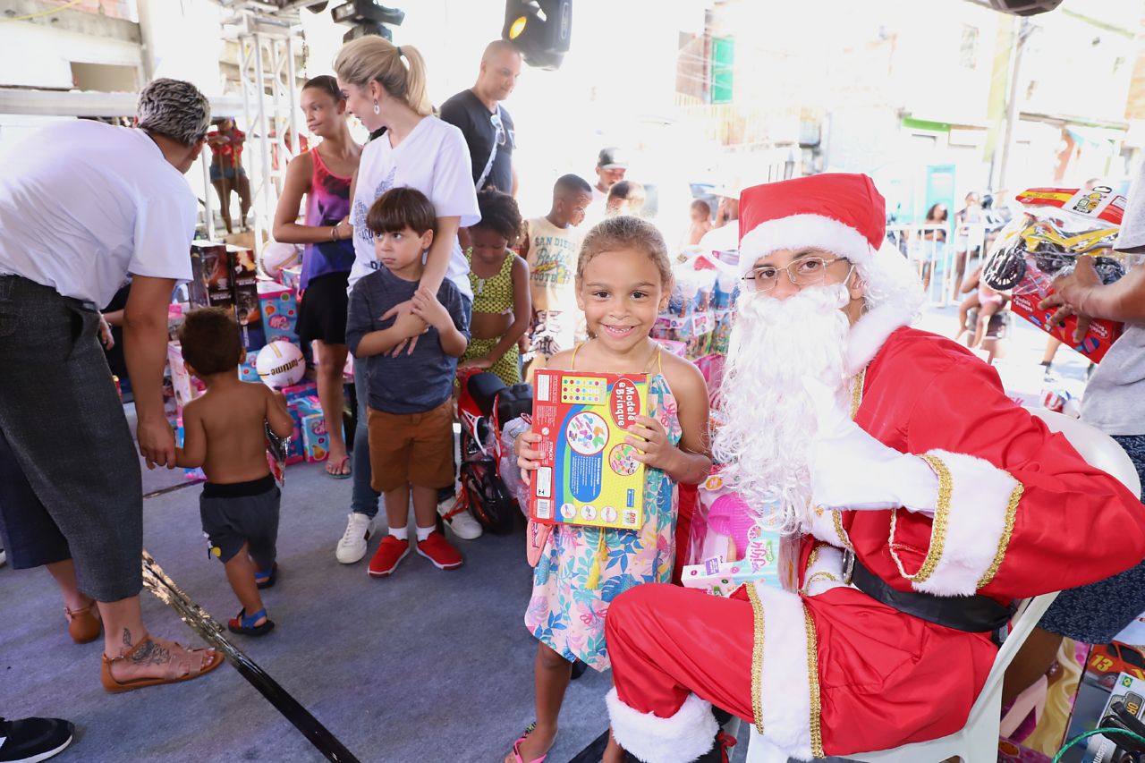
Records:
[[[799,530],[811,503],[818,424],[803,380],[842,400],[851,323],[839,308],[848,300],[846,285],[832,284],[787,299],[745,292],[736,306],[712,451],[747,504],[784,533]]]

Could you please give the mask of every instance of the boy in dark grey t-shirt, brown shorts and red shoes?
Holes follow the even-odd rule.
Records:
[[[366,226],[381,268],[363,276],[350,293],[346,344],[365,357],[371,485],[386,500],[389,534],[370,560],[370,575],[385,577],[410,552],[410,496],[417,552],[439,569],[456,569],[461,553],[436,529],[437,488],[453,481],[453,377],[469,341],[467,310],[448,278],[437,293],[420,286],[424,254],[433,243],[436,213],[424,194],[393,188],[373,203]],[[400,318],[382,315],[409,302],[425,333],[396,354],[404,337]]]

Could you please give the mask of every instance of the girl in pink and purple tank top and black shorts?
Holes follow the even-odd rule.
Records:
[[[318,399],[325,411],[330,454],[326,473],[350,475],[342,436],[342,369],[346,365],[347,280],[354,263],[354,229],[346,221],[350,209],[350,179],[362,147],[346,124],[346,102],[338,81],[315,77],[302,86],[302,113],[311,134],[322,143],[291,160],[275,213],[275,239],[305,245],[298,338],[315,343],[318,361]],[[306,217],[298,222],[302,197]]]

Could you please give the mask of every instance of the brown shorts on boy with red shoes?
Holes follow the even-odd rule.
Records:
[[[402,485],[440,488],[453,483],[453,401],[424,414],[370,409],[370,486],[388,493]]]

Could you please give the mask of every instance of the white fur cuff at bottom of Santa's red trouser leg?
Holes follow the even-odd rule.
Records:
[[[692,763],[716,744],[712,706],[695,694],[670,718],[625,705],[616,689],[605,698],[617,744],[647,763]]]

